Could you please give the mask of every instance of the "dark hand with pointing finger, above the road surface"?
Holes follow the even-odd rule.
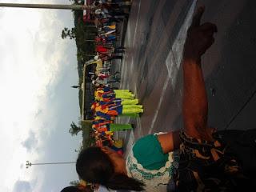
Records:
[[[214,43],[214,33],[217,26],[210,22],[200,25],[204,6],[200,6],[194,14],[190,28],[187,30],[186,42],[183,50],[184,59],[198,60],[202,54]]]

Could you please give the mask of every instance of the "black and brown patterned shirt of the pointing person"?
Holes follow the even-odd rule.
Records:
[[[236,191],[234,176],[241,170],[235,158],[226,155],[218,134],[214,142],[190,138],[183,131],[180,138],[180,162],[174,176],[177,191]]]

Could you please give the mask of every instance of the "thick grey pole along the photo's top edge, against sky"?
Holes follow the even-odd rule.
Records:
[[[19,8],[38,8],[38,9],[60,9],[60,10],[93,10],[92,6],[86,6],[86,5],[0,3],[0,6],[19,7]]]

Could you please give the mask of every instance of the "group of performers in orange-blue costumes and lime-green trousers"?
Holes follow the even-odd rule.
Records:
[[[94,102],[91,110],[94,112],[93,126],[96,146],[109,146],[111,149],[118,150],[113,134],[118,130],[131,130],[130,124],[114,123],[116,117],[132,116],[143,112],[142,105],[138,105],[138,98],[130,90],[113,90],[110,87],[98,87],[94,92]]]

